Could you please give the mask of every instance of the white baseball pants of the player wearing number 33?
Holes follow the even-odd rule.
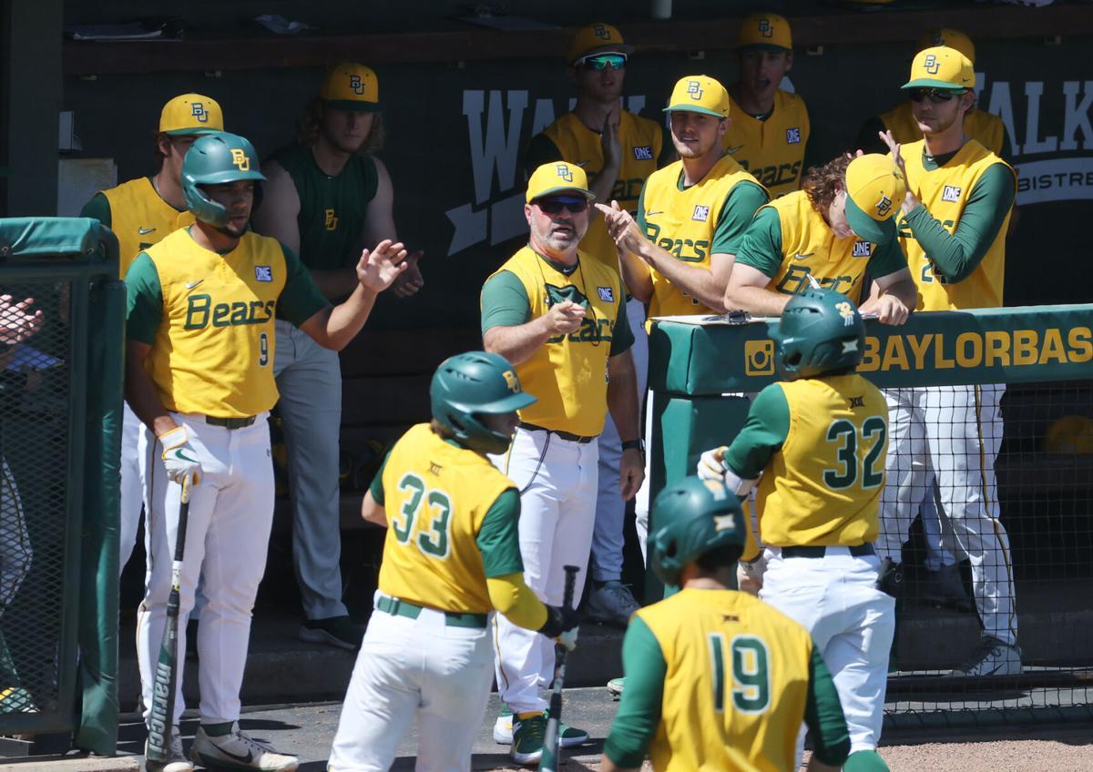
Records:
[[[444,614],[430,608],[416,619],[374,610],[327,770],[390,769],[415,718],[415,769],[469,770],[492,680],[489,627],[447,627]]]

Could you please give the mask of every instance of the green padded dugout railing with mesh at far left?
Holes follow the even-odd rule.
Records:
[[[98,221],[0,219],[0,736],[71,733],[102,755],[118,727],[124,324]]]

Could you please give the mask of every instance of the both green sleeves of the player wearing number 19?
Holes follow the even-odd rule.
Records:
[[[632,617],[622,643],[626,689],[611,732],[603,744],[603,755],[618,767],[637,768],[656,735],[663,704],[668,663],[649,626]],[[809,691],[804,722],[812,735],[813,753],[825,764],[838,765],[850,750],[846,720],[838,692],[820,651],[813,644],[809,662]]]

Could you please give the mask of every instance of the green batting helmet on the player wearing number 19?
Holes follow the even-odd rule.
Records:
[[[684,477],[660,491],[650,514],[649,562],[665,584],[679,584],[683,567],[712,549],[743,549],[740,499],[720,480]]]

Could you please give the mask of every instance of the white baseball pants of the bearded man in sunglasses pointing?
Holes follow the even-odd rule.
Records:
[[[546,431],[516,430],[506,455],[491,456],[520,491],[524,581],[543,603],[561,606],[563,566],[580,569],[574,603],[585,586],[596,515],[597,440],[579,443]],[[497,691],[514,713],[546,709],[554,678],[554,642],[494,616]]]

